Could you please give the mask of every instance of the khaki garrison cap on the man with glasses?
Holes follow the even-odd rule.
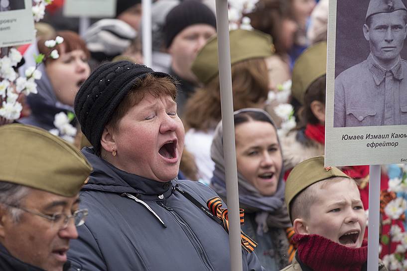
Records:
[[[73,197],[92,171],[73,145],[33,126],[1,126],[0,142],[0,181]]]

